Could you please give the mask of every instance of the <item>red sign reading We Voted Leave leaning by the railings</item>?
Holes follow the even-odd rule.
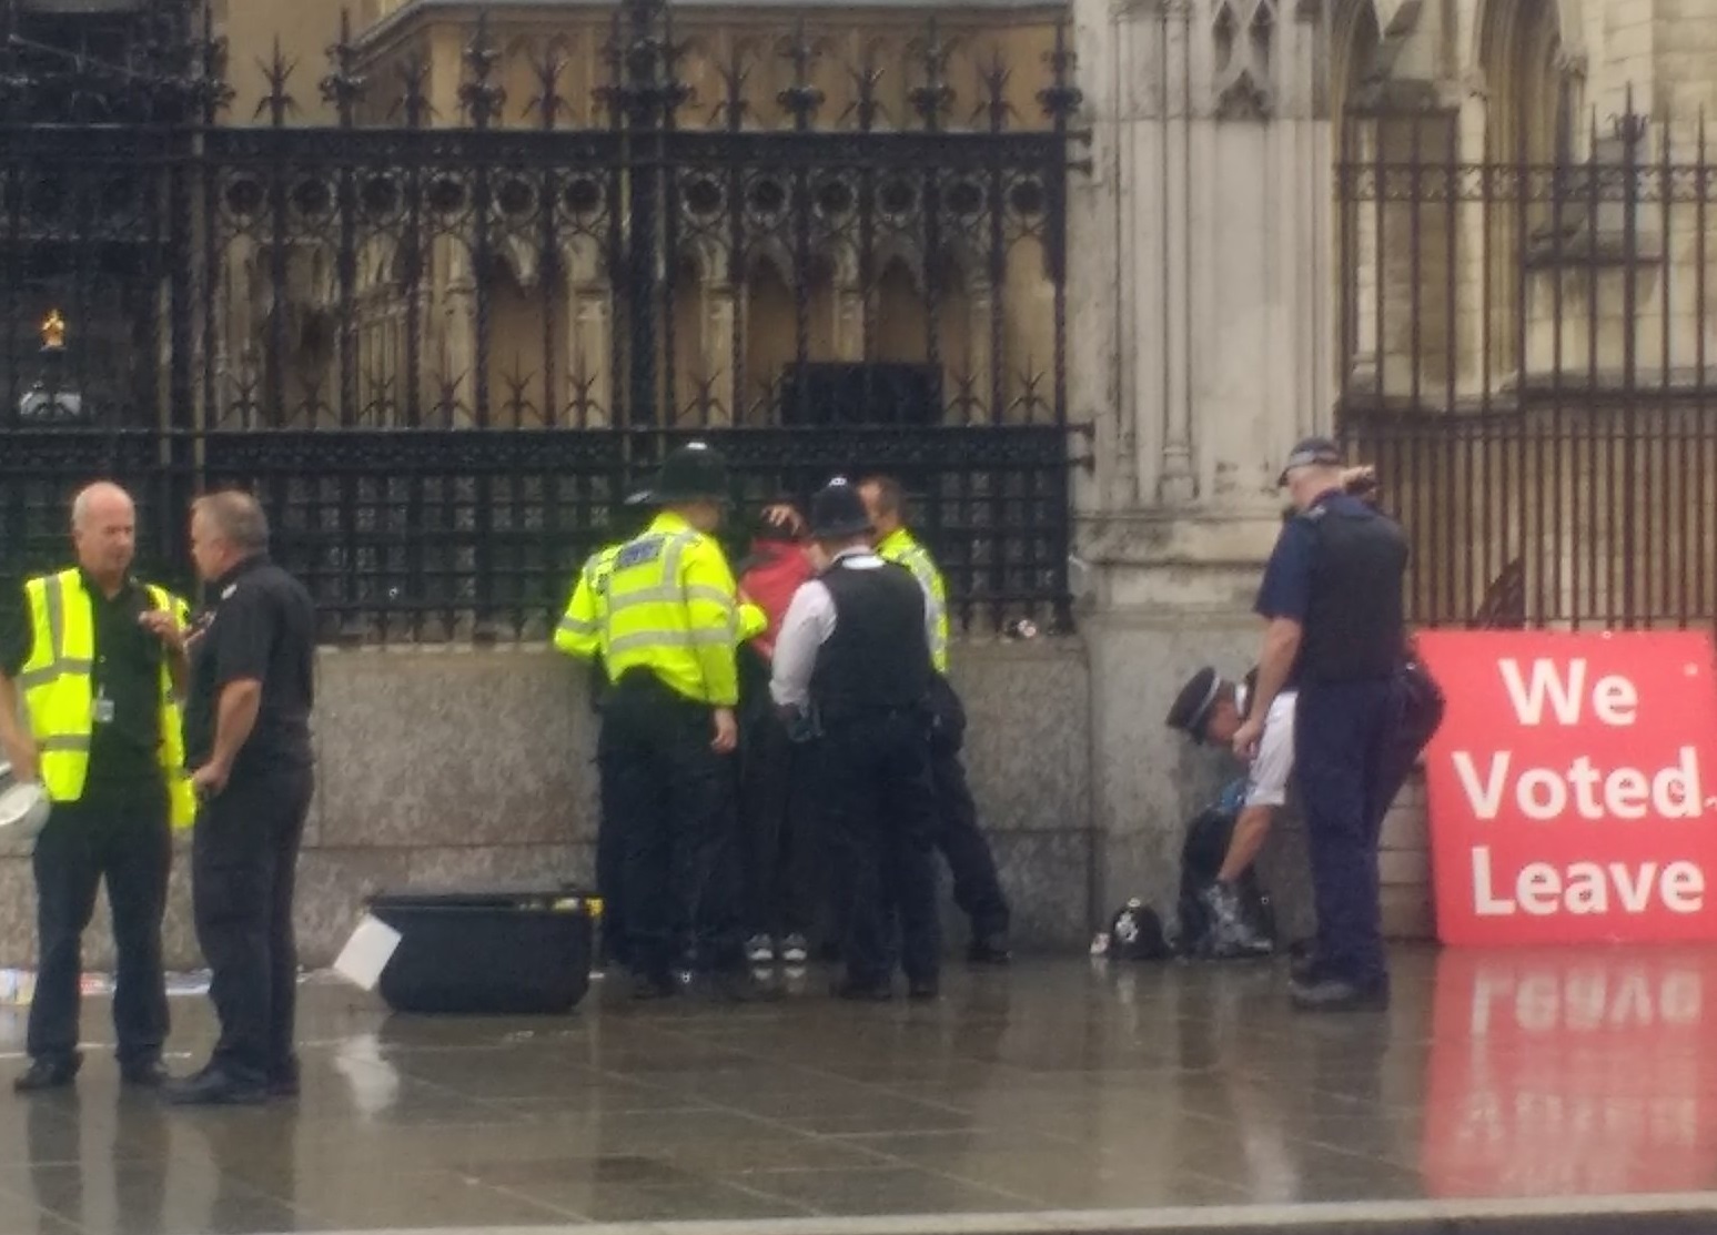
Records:
[[[1717,687],[1702,634],[1427,632],[1444,943],[1717,938]]]

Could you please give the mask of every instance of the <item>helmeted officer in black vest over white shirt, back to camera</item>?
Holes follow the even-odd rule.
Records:
[[[871,517],[834,479],[810,505],[828,567],[793,596],[769,682],[790,725],[821,730],[822,806],[845,928],[846,1000],[888,1000],[898,914],[912,998],[936,998],[936,788],[927,699],[936,678],[924,589],[871,548]]]

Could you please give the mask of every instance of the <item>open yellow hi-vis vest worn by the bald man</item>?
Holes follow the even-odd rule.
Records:
[[[165,587],[148,586],[149,603],[167,610],[184,629],[191,611]],[[29,713],[29,732],[41,745],[41,785],[50,802],[76,802],[89,775],[89,740],[94,735],[96,661],[94,605],[77,570],[62,570],[24,584],[29,599],[31,651],[17,675]],[[161,665],[161,771],[167,775],[172,821],[189,828],[197,799],[185,773],[185,735],[180,728],[173,673]]]

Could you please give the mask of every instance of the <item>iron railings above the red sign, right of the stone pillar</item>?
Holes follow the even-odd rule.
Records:
[[[1358,129],[1356,136],[1355,129]],[[1341,424],[1425,625],[1717,618],[1717,163],[1628,115],[1585,158],[1463,163],[1350,122]]]

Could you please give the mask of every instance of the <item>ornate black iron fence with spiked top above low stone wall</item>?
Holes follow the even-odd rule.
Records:
[[[96,476],[184,577],[187,498],[240,484],[330,637],[536,637],[618,498],[699,436],[742,505],[900,476],[965,622],[1066,622],[1059,33],[1030,129],[999,57],[956,96],[934,24],[912,115],[858,64],[828,120],[800,27],[778,129],[747,119],[743,60],[719,120],[683,127],[656,0],[616,10],[589,125],[553,52],[508,103],[484,24],[457,127],[422,60],[349,33],[328,127],[287,124],[278,57],[261,124],[228,127],[208,29],[130,36],[189,52],[139,77],[27,27],[0,46],[0,577],[64,557]],[[79,74],[113,106],[46,119]]]

